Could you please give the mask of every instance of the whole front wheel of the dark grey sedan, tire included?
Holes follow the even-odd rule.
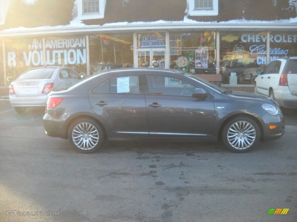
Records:
[[[236,117],[225,125],[222,140],[232,152],[249,152],[256,148],[260,140],[260,129],[251,118]]]

